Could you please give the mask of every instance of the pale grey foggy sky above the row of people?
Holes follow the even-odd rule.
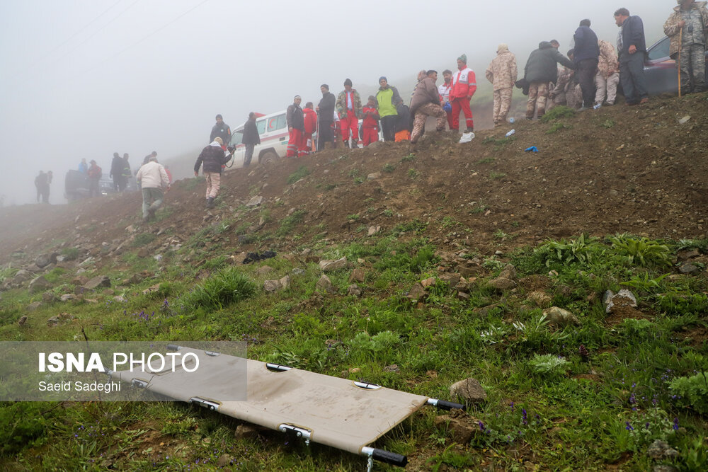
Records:
[[[455,70],[463,52],[486,83],[501,42],[523,75],[539,41],[566,52],[583,18],[615,44],[622,6],[644,20],[649,46],[675,2],[2,1],[0,195],[35,202],[35,175],[51,170],[50,202],[64,203],[64,173],[82,158],[104,175],[114,152],[134,168],[151,151],[196,158],[217,113],[234,129],[296,94],[316,104],[323,83],[335,94],[346,78],[367,91],[382,75],[412,86],[420,69]]]

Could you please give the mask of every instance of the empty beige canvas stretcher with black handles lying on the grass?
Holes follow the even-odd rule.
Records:
[[[368,470],[375,459],[406,466],[406,456],[370,444],[423,405],[464,409],[458,403],[278,364],[176,345],[168,348],[182,355],[192,352],[199,368],[194,372],[186,372],[190,367],[156,373],[109,371],[108,375],[176,401],[292,434],[308,445],[316,442],[367,456]],[[234,377],[234,366],[244,361],[246,379]],[[234,401],[234,389],[244,385],[246,398]]]

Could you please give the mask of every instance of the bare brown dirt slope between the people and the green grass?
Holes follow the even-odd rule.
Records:
[[[209,213],[204,184],[180,180],[166,196],[171,214],[149,225],[140,222],[138,194],[3,208],[0,263],[15,251],[118,243],[131,224],[160,232],[157,247],[166,238],[186,241],[205,225],[228,221],[226,247],[243,243],[246,234],[256,238],[241,250],[302,246],[322,237],[346,241],[366,236],[372,225],[387,231],[416,219],[430,223],[424,234],[434,241],[481,252],[583,231],[704,238],[707,112],[704,96],[656,99],[557,122],[523,120],[478,132],[469,144],[457,144],[450,133],[428,133],[417,146],[340,147],[270,170],[227,171],[217,200],[222,203]],[[680,124],[685,116],[690,120]],[[503,139],[512,127],[513,137]],[[539,152],[524,152],[528,146]],[[309,174],[289,184],[301,166]],[[367,179],[371,173],[380,175]],[[257,195],[264,198],[260,207],[241,206]],[[292,212],[302,219],[285,241],[274,241],[270,236]],[[470,236],[459,232],[464,227],[472,229]]]

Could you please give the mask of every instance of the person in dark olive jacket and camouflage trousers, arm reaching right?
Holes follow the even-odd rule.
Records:
[[[538,49],[531,52],[524,69],[524,79],[529,84],[529,98],[526,102],[526,118],[533,120],[536,113],[540,118],[546,113],[548,84],[558,80],[558,63],[568,69],[575,64],[558,52],[548,41],[539,42]]]

